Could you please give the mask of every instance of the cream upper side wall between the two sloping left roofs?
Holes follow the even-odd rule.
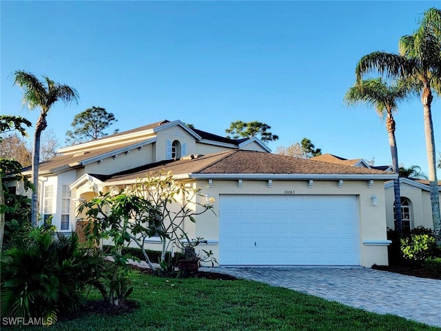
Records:
[[[88,174],[114,174],[127,169],[132,169],[154,162],[152,155],[154,154],[152,144],[144,146],[141,150],[138,148],[130,150],[127,154],[121,153],[113,157],[103,159],[101,163],[98,161],[85,165],[85,173]]]

